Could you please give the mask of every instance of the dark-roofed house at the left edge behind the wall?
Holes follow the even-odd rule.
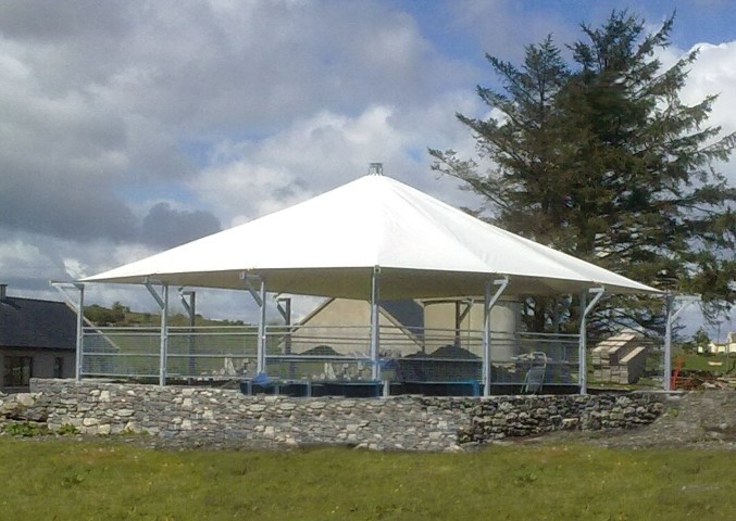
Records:
[[[64,303],[9,296],[0,284],[0,389],[74,377],[75,350],[76,314]]]

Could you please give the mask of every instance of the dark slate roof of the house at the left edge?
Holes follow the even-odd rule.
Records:
[[[76,348],[76,314],[63,302],[0,301],[0,347]]]

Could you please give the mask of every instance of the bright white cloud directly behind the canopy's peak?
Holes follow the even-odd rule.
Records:
[[[477,110],[473,97],[447,96],[416,110],[373,105],[354,117],[322,112],[264,140],[224,142],[189,188],[216,204],[230,224],[349,182],[365,175],[373,162],[384,163],[385,175],[452,199],[447,192],[453,191],[454,181],[439,182],[428,174],[426,149],[433,143],[457,150],[474,147],[454,118],[458,109]]]

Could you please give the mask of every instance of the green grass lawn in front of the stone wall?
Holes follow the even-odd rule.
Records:
[[[0,519],[731,520],[736,453],[153,452],[0,439]]]

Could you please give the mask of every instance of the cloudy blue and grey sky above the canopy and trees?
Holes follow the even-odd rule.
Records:
[[[0,0],[0,282],[58,300],[74,280],[292,205],[382,162],[453,205],[483,202],[431,169],[427,148],[471,156],[456,113],[483,117],[485,53],[581,37],[621,1]],[[676,12],[672,63],[700,55],[685,103],[720,93],[736,130],[731,0],[638,1],[656,30]],[[718,165],[736,185],[736,165]],[[295,233],[299,225],[295,223]],[[140,289],[88,302],[152,309]],[[248,319],[246,296],[200,309]],[[736,317],[722,326],[736,330]],[[697,318],[690,316],[693,325]]]

